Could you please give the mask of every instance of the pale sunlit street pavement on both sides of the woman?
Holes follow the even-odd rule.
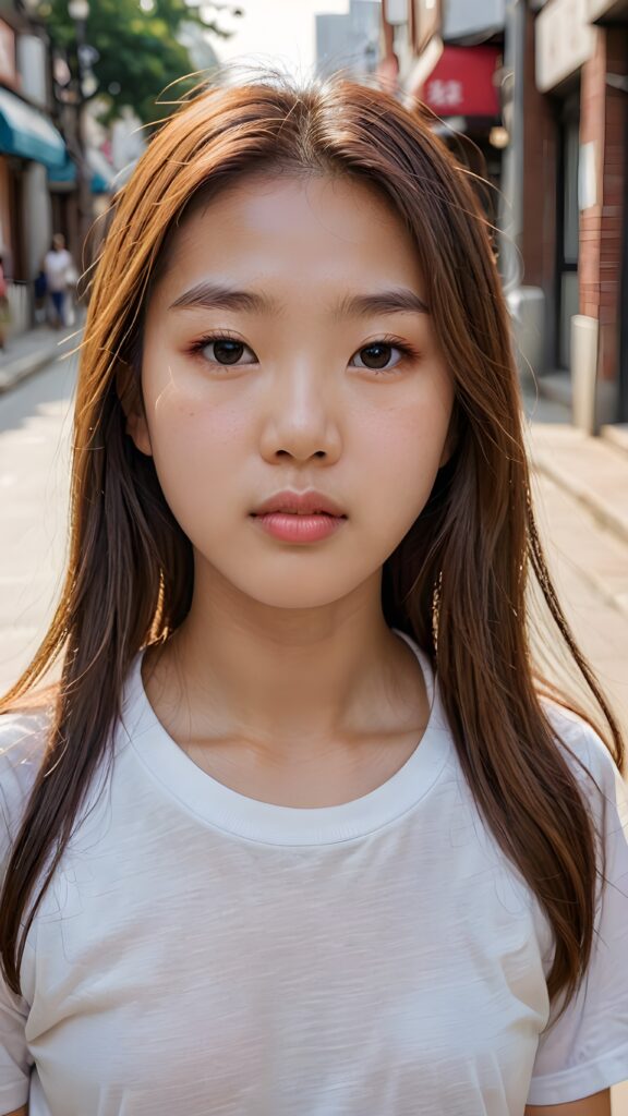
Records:
[[[41,352],[50,346],[45,333],[37,338]],[[75,356],[56,358],[0,394],[0,691],[37,650],[61,585],[75,376]],[[526,384],[523,398],[531,452],[536,442],[546,448],[552,430],[563,429],[567,436],[564,406],[537,400]],[[617,452],[618,468],[625,468]],[[594,483],[594,462],[591,470]],[[568,619],[628,737],[628,538],[546,471],[534,473],[533,499]],[[554,636],[540,638],[555,644]],[[628,1083],[613,1090],[613,1116],[628,1116]]]

